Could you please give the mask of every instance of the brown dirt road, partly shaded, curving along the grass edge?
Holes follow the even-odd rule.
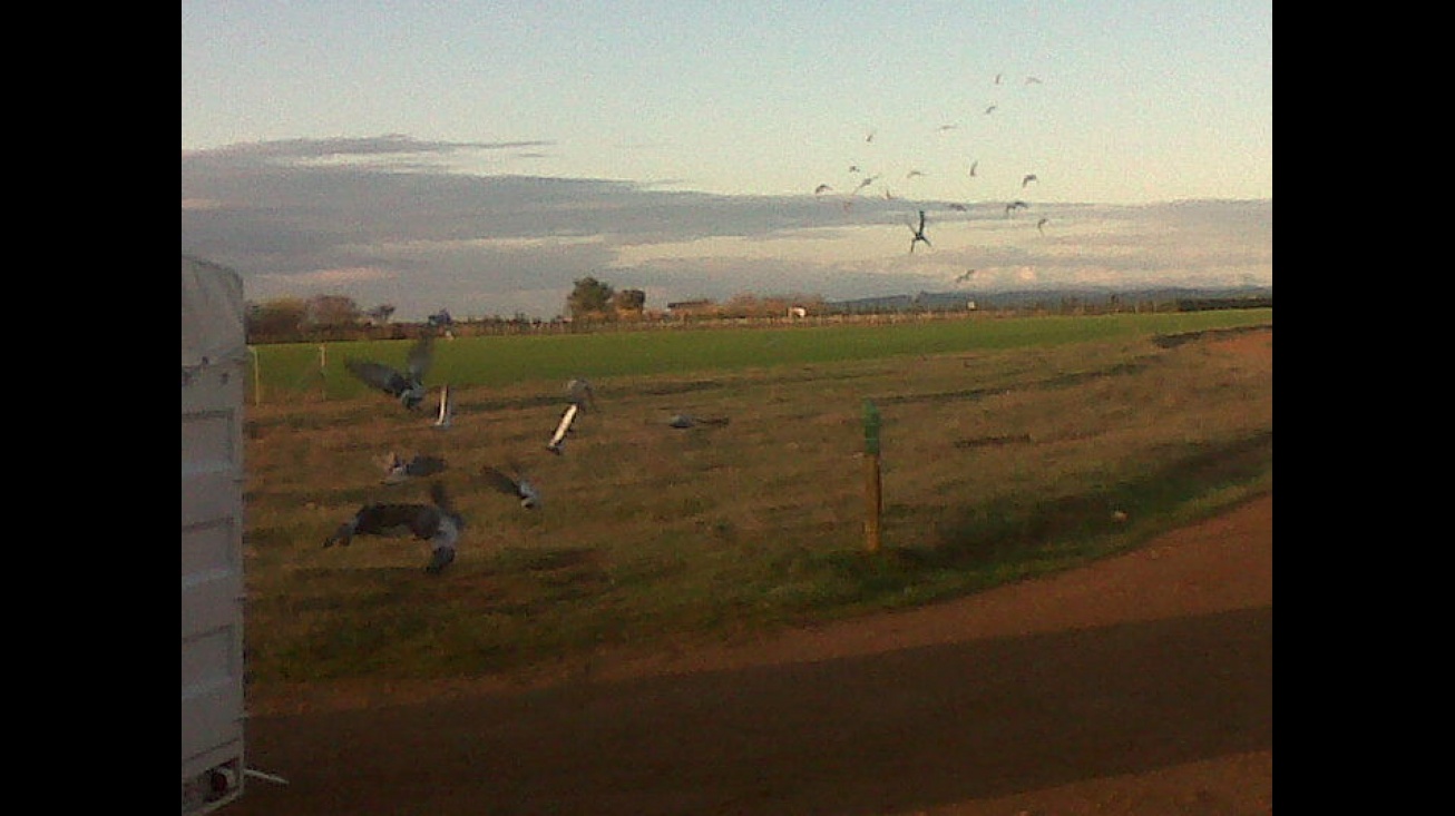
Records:
[[[226,813],[1270,813],[1273,499],[933,608],[420,697],[275,701],[249,765],[290,784]]]

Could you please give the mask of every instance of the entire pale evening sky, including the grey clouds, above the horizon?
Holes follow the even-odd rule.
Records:
[[[1272,285],[1272,3],[183,0],[182,252],[402,320]]]

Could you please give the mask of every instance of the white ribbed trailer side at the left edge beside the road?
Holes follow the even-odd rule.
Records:
[[[243,793],[243,285],[182,256],[182,813]]]

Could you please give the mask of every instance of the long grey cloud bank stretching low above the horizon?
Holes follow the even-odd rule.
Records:
[[[1032,201],[1007,218],[1001,201],[844,208],[451,164],[550,144],[381,135],[185,151],[182,249],[242,272],[249,300],[343,294],[402,320],[441,307],[550,317],[585,275],[665,300],[943,291],[972,268],[976,288],[1272,284],[1272,201]],[[909,255],[918,208],[933,249]]]

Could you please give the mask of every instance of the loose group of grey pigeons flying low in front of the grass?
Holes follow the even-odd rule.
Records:
[[[425,401],[429,387],[425,385],[425,375],[434,361],[434,327],[415,342],[409,349],[404,368],[399,369],[375,361],[346,359],[345,368],[371,388],[388,394],[406,412],[418,412]],[[565,412],[556,423],[546,442],[546,449],[554,455],[565,454],[566,439],[572,435],[576,416],[586,409],[597,407],[595,393],[591,383],[583,378],[573,378],[566,383]],[[695,417],[690,415],[672,415],[666,422],[669,428],[687,429],[698,426],[728,425],[726,417]],[[439,387],[439,413],[434,420],[434,428],[448,431],[454,426],[454,400],[450,385]],[[435,455],[416,454],[403,458],[390,452],[383,460],[384,484],[402,484],[413,477],[435,476],[448,468],[444,458]],[[541,506],[541,493],[527,477],[525,470],[515,460],[506,460],[506,467],[485,465],[476,474],[476,483],[498,493],[512,496],[524,509]],[[413,535],[429,541],[432,556],[425,567],[431,575],[438,575],[455,559],[455,547],[460,534],[466,527],[464,516],[454,508],[444,484],[434,481],[429,486],[429,503],[416,502],[370,502],[361,506],[351,518],[342,522],[323,545],[348,545],[356,535]]]

